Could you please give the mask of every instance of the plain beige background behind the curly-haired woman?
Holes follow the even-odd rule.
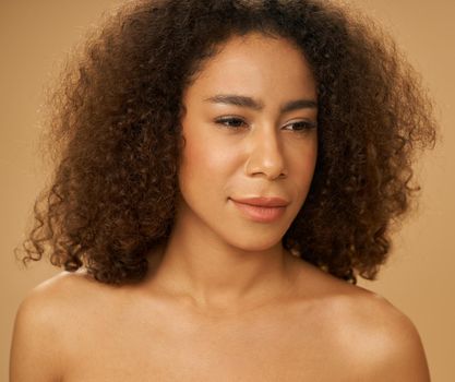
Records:
[[[65,52],[120,0],[0,0],[0,380],[7,381],[12,324],[27,290],[58,270],[14,264],[33,202],[45,183],[36,139],[44,84]],[[349,1],[348,1],[349,2]],[[423,74],[435,99],[443,141],[418,168],[420,208],[395,239],[380,293],[418,327],[433,381],[455,380],[455,2],[351,0],[379,20]],[[452,150],[451,150],[452,148]],[[450,237],[452,234],[452,237]]]

